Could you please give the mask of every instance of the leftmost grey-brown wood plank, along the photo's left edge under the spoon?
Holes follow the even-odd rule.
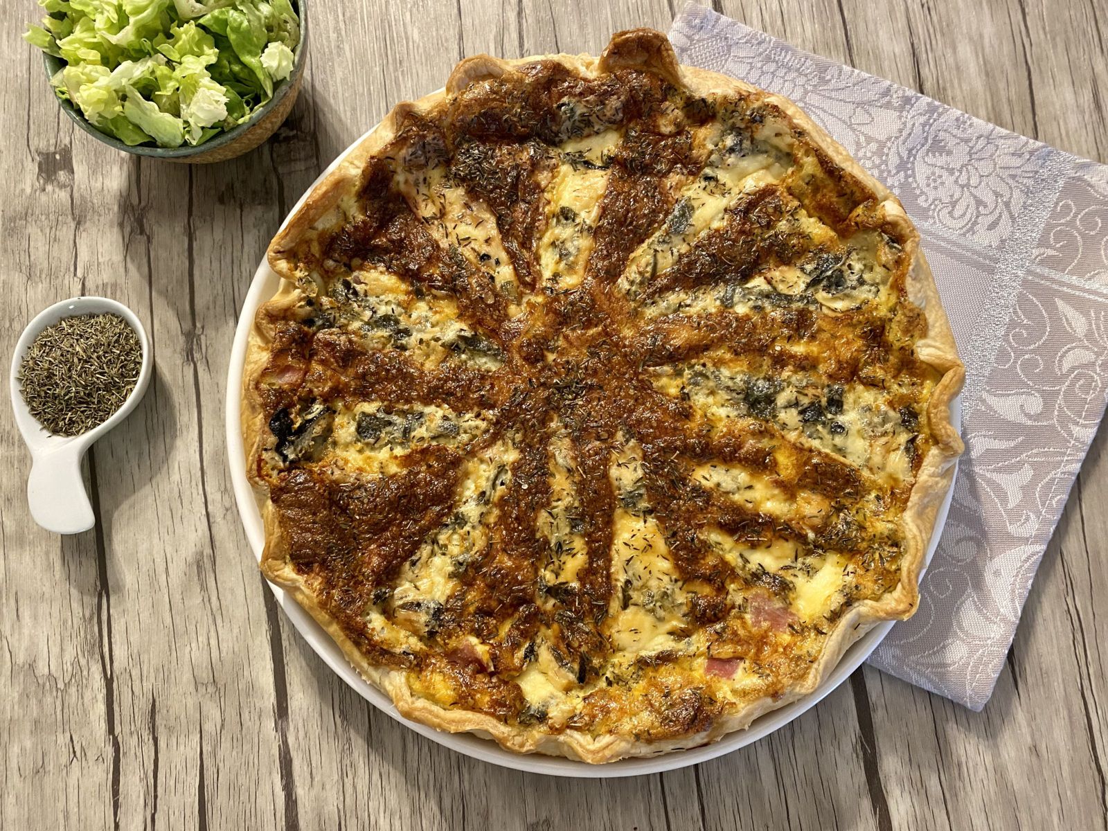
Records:
[[[21,12],[12,4],[0,8],[4,31],[22,23]],[[0,155],[6,188],[0,246],[9,305],[0,319],[4,356],[33,315],[81,291],[74,263],[78,223],[84,220],[79,197],[71,198],[73,131],[50,99],[41,60],[21,53],[14,66],[17,78],[0,96],[10,127]],[[95,187],[98,178],[84,183]],[[0,673],[7,681],[0,696],[0,827],[61,827],[78,815],[110,827],[119,727],[106,552],[93,534],[62,538],[31,522],[30,459],[10,408],[0,411]]]

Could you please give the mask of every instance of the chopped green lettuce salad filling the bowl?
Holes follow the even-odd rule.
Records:
[[[290,0],[39,0],[23,38],[66,65],[51,84],[127,145],[203,144],[250,117],[293,71]]]

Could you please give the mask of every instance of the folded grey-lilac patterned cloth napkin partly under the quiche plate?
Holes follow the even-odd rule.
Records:
[[[699,6],[669,37],[796,101],[920,229],[966,363],[966,453],[920,609],[870,663],[979,710],[1108,399],[1108,166]]]

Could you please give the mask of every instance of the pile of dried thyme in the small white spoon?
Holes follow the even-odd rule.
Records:
[[[48,326],[19,370],[27,409],[54,435],[80,435],[119,410],[138,382],[142,345],[119,315],[76,315]]]

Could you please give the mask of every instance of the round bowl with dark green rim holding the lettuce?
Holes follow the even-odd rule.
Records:
[[[264,106],[258,107],[248,121],[243,122],[233,130],[228,130],[226,133],[213,136],[199,146],[158,147],[146,144],[140,144],[134,147],[127,146],[119,138],[101,133],[92,126],[81,114],[81,111],[73,106],[71,101],[58,99],[57,95],[54,98],[58,99],[58,103],[65,114],[81,130],[94,136],[96,141],[124,153],[187,164],[224,162],[248,153],[277,132],[277,127],[288,117],[289,112],[293,110],[293,104],[296,103],[296,96],[300,92],[304,65],[308,60],[308,0],[293,1],[297,7],[297,13],[300,16],[300,42],[295,50],[293,72],[274,90],[274,96]],[[63,60],[52,54],[43,54],[43,63],[47,66],[48,78],[53,78],[65,65]],[[51,88],[52,92],[53,88]]]

